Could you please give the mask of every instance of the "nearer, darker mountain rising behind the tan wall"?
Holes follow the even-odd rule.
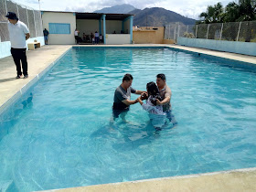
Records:
[[[129,14],[134,15],[133,26],[164,27],[173,22],[181,22],[184,25],[194,25],[196,23],[195,19],[159,7],[145,8],[144,10],[135,9]]]

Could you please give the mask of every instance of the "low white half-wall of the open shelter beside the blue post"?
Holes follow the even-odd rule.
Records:
[[[130,34],[106,34],[107,45],[130,44]]]

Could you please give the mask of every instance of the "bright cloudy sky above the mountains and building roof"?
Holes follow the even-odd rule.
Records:
[[[40,0],[40,9],[48,11],[93,12],[113,5],[129,4],[144,9],[162,7],[182,16],[198,19],[200,13],[207,10],[208,5],[220,2],[226,6],[232,0]],[[234,0],[235,2],[237,0]],[[15,0],[16,3],[39,9],[38,0]]]

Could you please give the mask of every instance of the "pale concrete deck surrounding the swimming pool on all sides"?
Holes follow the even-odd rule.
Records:
[[[127,47],[170,47],[191,52],[198,52],[225,59],[235,59],[256,64],[256,57],[219,52],[204,48],[188,48],[176,45],[127,45]],[[16,66],[12,57],[0,59],[0,112],[26,90],[27,84],[37,80],[44,69],[47,69],[72,46],[44,46],[27,51],[28,79],[16,80]],[[88,46],[82,46],[88,47]],[[91,46],[89,46],[91,47]],[[95,46],[97,47],[97,46]],[[101,46],[102,47],[102,46]],[[112,47],[118,47],[116,45]],[[123,47],[123,46],[121,46]],[[193,176],[176,176],[143,181],[124,182],[90,187],[59,189],[58,191],[256,191],[256,168],[233,170]]]

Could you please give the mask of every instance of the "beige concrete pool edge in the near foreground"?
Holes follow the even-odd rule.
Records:
[[[129,182],[68,187],[41,192],[131,192],[131,191],[255,191],[256,168],[234,169],[187,176],[170,176]]]

